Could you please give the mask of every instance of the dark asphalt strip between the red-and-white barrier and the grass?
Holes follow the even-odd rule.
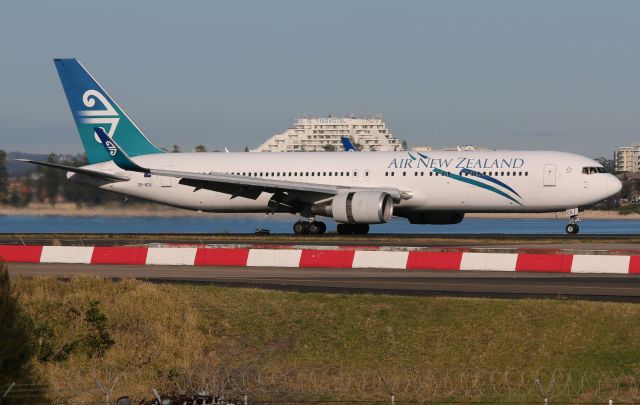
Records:
[[[92,275],[299,291],[482,297],[568,297],[640,302],[640,277],[379,269],[9,264],[12,276]]]

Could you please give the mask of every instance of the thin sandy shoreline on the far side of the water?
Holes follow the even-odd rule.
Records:
[[[189,211],[180,208],[167,207],[157,204],[134,206],[77,207],[75,204],[61,203],[55,206],[49,204],[31,204],[29,207],[15,208],[0,206],[0,216],[75,216],[75,217],[202,217],[207,218],[263,218],[265,214],[220,214],[210,212]],[[282,217],[282,215],[279,215]],[[566,220],[564,212],[547,213],[470,213],[465,218],[474,219],[558,219]],[[617,211],[584,211],[581,219],[609,219],[609,220],[640,220],[640,214],[620,215]]]

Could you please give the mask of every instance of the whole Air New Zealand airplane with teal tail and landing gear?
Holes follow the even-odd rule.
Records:
[[[189,210],[298,215],[295,234],[366,234],[392,217],[456,224],[466,213],[566,210],[618,193],[596,161],[552,151],[166,153],[154,145],[76,59],[55,59],[89,164],[70,181]],[[526,229],[524,230],[526,231]]]

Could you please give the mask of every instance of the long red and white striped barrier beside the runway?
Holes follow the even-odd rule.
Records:
[[[613,252],[617,253],[617,252]],[[640,255],[438,252],[359,247],[76,247],[0,245],[14,263],[513,271],[640,275]]]

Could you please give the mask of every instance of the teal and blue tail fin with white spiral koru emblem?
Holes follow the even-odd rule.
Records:
[[[163,153],[76,59],[54,59],[89,163],[111,160],[94,128],[118,142],[129,156]]]

